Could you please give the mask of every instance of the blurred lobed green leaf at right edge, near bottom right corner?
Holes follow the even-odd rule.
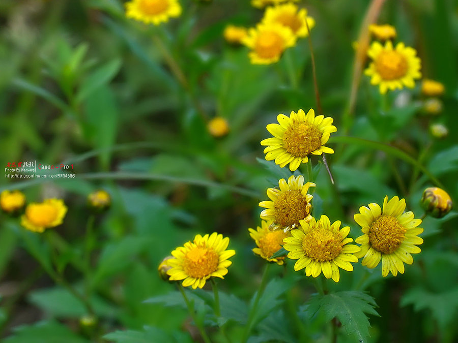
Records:
[[[458,315],[458,287],[442,293],[432,293],[422,287],[417,287],[407,291],[400,305],[413,305],[416,311],[423,309],[431,311],[440,330],[445,331],[448,325],[456,321]]]

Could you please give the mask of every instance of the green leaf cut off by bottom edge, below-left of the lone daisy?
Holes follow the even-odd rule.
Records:
[[[120,343],[192,342],[192,339],[187,332],[174,331],[168,333],[162,329],[149,326],[145,326],[144,331],[127,330],[111,332],[104,335],[103,338]]]

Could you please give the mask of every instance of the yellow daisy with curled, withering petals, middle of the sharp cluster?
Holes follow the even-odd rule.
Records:
[[[261,212],[261,219],[270,223],[273,230],[283,229],[284,232],[294,229],[299,225],[299,221],[309,221],[311,219],[310,201],[313,199],[311,194],[307,194],[310,187],[316,186],[313,182],[304,184],[304,177],[299,175],[290,176],[287,181],[278,181],[280,189],[269,188],[267,196],[272,200],[261,201],[260,207],[266,208]]]

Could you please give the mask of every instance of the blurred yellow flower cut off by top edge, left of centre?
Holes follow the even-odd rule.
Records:
[[[159,25],[181,15],[178,0],[131,0],[125,4],[126,17]]]

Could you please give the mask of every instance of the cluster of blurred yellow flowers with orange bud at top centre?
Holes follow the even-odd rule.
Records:
[[[273,6],[267,7],[255,28],[228,25],[224,30],[228,42],[250,48],[248,56],[252,64],[276,63],[284,50],[295,46],[298,38],[307,37],[315,26],[315,20],[307,16],[307,10],[291,2],[253,0],[252,5],[259,8]]]

